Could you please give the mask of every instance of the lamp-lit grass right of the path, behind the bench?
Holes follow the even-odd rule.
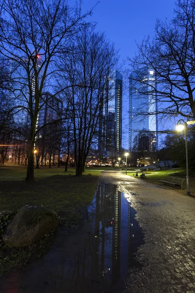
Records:
[[[140,179],[140,175],[138,174],[138,177],[136,177],[136,169],[134,170],[127,170],[127,175],[133,176],[135,178],[137,178],[137,180],[142,180]],[[165,180],[165,178],[167,176],[171,176],[173,174],[174,177],[178,177],[178,178],[186,178],[185,175],[185,169],[183,168],[174,168],[174,169],[168,169],[168,170],[162,170],[162,171],[143,171],[143,173],[146,174],[146,178],[144,180],[146,180],[146,182],[148,183],[152,183],[155,185],[161,185],[164,186],[163,183],[160,183],[159,180]],[[125,170],[122,170],[120,172],[125,173]],[[177,174],[176,174],[177,173]],[[174,187],[167,187],[170,189],[175,189]],[[177,189],[180,193],[186,195],[186,182],[183,182],[183,190],[181,189]],[[190,191],[191,194],[193,196],[195,196],[195,177],[194,176],[190,176]]]

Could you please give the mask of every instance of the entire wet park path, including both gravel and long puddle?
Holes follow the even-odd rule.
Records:
[[[0,292],[193,293],[195,198],[105,171],[83,227]]]

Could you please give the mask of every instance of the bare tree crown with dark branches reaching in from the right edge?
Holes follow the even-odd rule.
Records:
[[[177,0],[172,21],[156,22],[156,35],[137,45],[138,53],[130,60],[142,92],[154,98],[158,107],[151,105],[140,115],[159,114],[159,118],[181,115],[195,116],[195,0]],[[150,78],[143,76],[148,68]],[[153,82],[151,80],[153,79]],[[145,89],[149,89],[146,91]],[[191,114],[192,113],[192,114]]]

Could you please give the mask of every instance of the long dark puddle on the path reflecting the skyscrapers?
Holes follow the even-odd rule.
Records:
[[[13,273],[2,292],[114,292],[128,269],[140,266],[135,253],[144,244],[127,197],[116,185],[99,184],[83,227],[61,247]]]

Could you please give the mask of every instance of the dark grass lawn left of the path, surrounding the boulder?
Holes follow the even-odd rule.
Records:
[[[73,232],[82,224],[87,206],[97,188],[103,168],[86,168],[82,177],[76,177],[75,168],[64,172],[64,167],[35,169],[35,182],[24,181],[26,167],[0,167],[0,275],[9,273],[39,257],[54,244],[55,231],[33,245],[9,248],[2,241],[2,234],[14,214],[27,204],[42,205],[55,210],[63,235]],[[10,212],[11,211],[11,212]]]

